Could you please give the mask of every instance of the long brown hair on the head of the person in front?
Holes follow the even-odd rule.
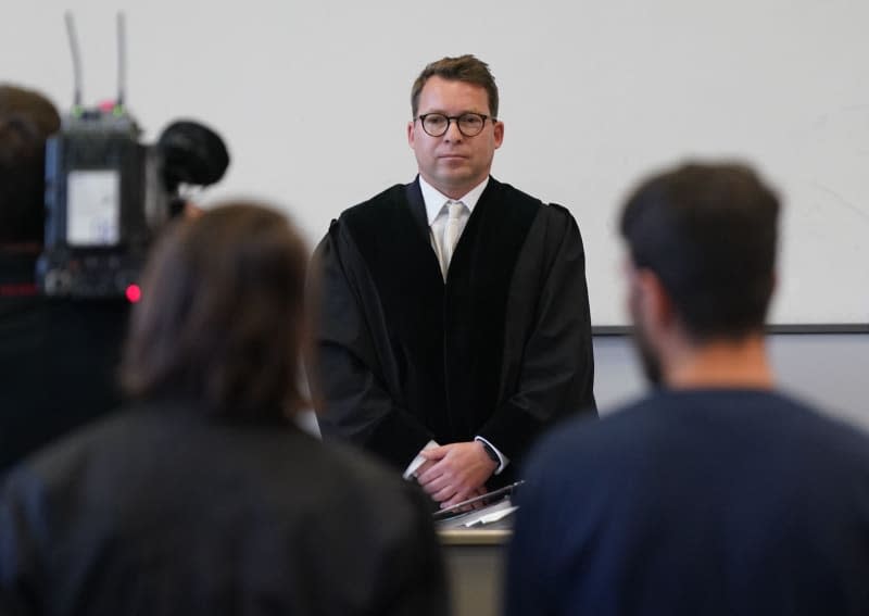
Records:
[[[134,309],[122,380],[237,419],[298,411],[307,249],[274,210],[228,203],[159,240]]]

